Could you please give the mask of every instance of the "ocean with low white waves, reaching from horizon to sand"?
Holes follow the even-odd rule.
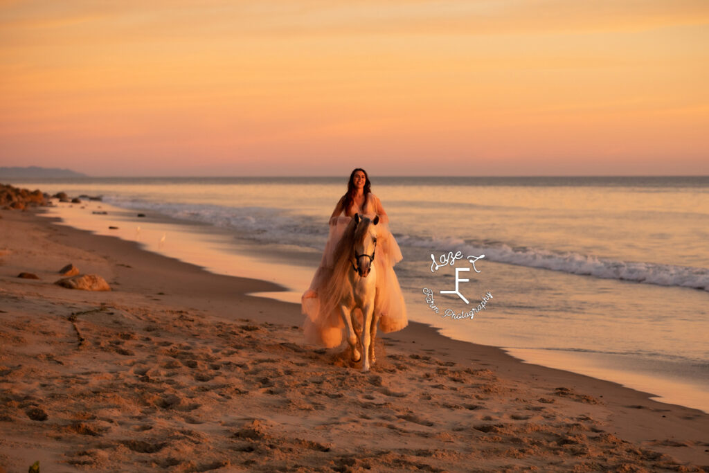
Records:
[[[370,178],[411,320],[709,412],[709,177]],[[11,184],[102,196],[48,215],[298,301],[347,176]]]

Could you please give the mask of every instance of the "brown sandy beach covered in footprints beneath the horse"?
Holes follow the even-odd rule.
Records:
[[[0,217],[0,472],[709,469],[701,411],[419,323],[362,374],[247,295],[272,283]],[[69,263],[112,290],[52,284]]]

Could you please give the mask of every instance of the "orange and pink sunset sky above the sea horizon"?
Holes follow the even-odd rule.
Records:
[[[0,166],[709,174],[709,1],[0,0]]]

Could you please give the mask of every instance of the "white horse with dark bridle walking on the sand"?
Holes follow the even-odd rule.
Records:
[[[354,228],[354,242],[350,251],[350,265],[352,270],[347,273],[345,284],[349,284],[349,290],[345,290],[340,299],[340,313],[342,321],[347,328],[347,343],[352,348],[352,361],[362,360],[362,371],[369,371],[370,365],[374,365],[374,340],[376,338],[376,325],[379,317],[374,311],[376,300],[376,267],[374,267],[374,257],[376,257],[376,226],[379,223],[379,216],[370,220],[359,213],[354,214],[356,227]],[[362,335],[355,331],[359,329],[356,320],[355,309],[362,311]],[[357,343],[361,340],[361,344]],[[358,346],[362,349],[362,354]]]

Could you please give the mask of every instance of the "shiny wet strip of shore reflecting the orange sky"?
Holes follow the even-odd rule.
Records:
[[[107,210],[108,215],[94,215],[98,209]],[[142,211],[147,213],[147,218],[136,217],[136,213]],[[213,227],[200,221],[167,216],[147,209],[122,208],[113,204],[82,201],[82,204],[75,206],[60,204],[48,213],[55,218],[61,218],[60,225],[89,230],[96,235],[114,236],[128,242],[139,242],[143,250],[191,262],[214,274],[250,277],[280,284],[287,290],[252,294],[277,301],[300,304],[300,296],[307,289],[307,286],[302,283],[310,281],[313,268],[317,267],[320,261],[320,253],[317,252],[296,256],[292,251],[279,248],[271,254],[274,252],[273,247],[269,247],[269,252],[258,252],[255,243],[248,240],[239,240],[239,243],[236,243],[237,240],[233,235],[223,228]],[[119,228],[106,231],[109,226]],[[142,228],[139,230],[140,235],[131,230],[136,227]],[[164,238],[163,230],[167,231],[168,236],[167,243],[161,247],[157,242],[161,235]],[[199,253],[194,253],[193,248],[199,248]],[[233,268],[238,269],[233,271]],[[274,277],[276,274],[278,276]],[[418,320],[421,321],[421,314],[410,310],[411,319],[415,320],[417,315]],[[447,338],[476,343],[476,340],[470,340],[469,337],[467,339],[465,336],[456,336],[454,330],[452,331],[445,323],[437,325],[435,322],[422,322],[439,330],[440,333],[445,333]],[[487,346],[501,348],[521,362],[616,382],[636,391],[652,392],[655,400],[659,402],[698,408],[704,413],[709,413],[704,401],[705,386],[692,382],[702,379],[700,374],[695,374],[694,378],[685,375],[683,378],[673,379],[672,369],[658,370],[658,365],[654,365],[652,367],[654,371],[647,371],[647,362],[646,365],[642,365],[644,360],[619,360],[617,355],[604,359],[602,354],[586,353],[580,356],[578,352],[564,350],[550,353],[541,348],[508,347],[501,345],[500,342],[501,340],[498,340],[497,343],[490,343]],[[614,364],[618,362],[620,366],[615,366]],[[645,372],[638,372],[639,368],[645,369]]]

